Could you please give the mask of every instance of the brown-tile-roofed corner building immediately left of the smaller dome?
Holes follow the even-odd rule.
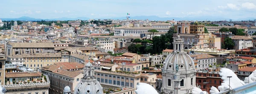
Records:
[[[84,64],[81,63],[54,63],[44,66],[40,71],[49,77],[50,94],[61,94],[65,86],[69,86],[73,94],[76,85],[83,77],[83,74],[79,72],[83,69]]]

